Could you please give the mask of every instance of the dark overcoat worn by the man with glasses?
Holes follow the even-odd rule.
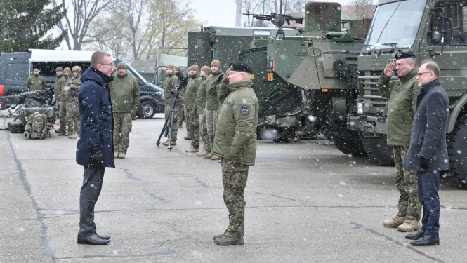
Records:
[[[446,91],[435,79],[420,90],[412,125],[409,151],[404,169],[416,171],[447,170],[446,128],[449,116],[449,100]],[[420,156],[429,159],[428,170],[420,166]]]

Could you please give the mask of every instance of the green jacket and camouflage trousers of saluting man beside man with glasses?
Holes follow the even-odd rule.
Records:
[[[416,112],[416,97],[420,91],[416,73],[412,69],[399,80],[390,81],[381,74],[378,80],[379,94],[388,97],[388,145],[393,147],[395,163],[395,185],[400,193],[397,217],[419,221],[421,203],[417,187],[417,173],[402,168],[409,150],[412,121]]]

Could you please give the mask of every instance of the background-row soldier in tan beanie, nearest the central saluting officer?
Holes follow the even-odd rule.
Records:
[[[213,60],[211,62],[211,75],[206,78],[206,128],[208,131],[209,146],[212,149],[214,137],[216,135],[216,123],[219,109],[219,83],[224,74],[221,69],[221,62]],[[219,156],[209,153],[204,159],[218,160]]]

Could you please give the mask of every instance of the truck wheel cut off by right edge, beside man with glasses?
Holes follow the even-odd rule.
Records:
[[[451,173],[459,182],[467,185],[467,116],[456,122],[447,142]]]

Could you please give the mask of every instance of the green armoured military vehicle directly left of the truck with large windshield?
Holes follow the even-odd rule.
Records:
[[[276,19],[277,20],[277,19]],[[350,29],[341,30],[343,22]],[[301,36],[270,38],[242,51],[254,72],[260,108],[268,115],[300,108],[299,134],[321,131],[344,154],[366,156],[357,131],[346,127],[355,112],[357,57],[371,20],[341,20],[341,5],[310,2]]]

